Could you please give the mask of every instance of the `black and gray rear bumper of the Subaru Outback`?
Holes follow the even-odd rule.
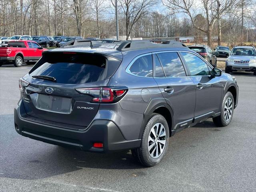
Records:
[[[14,108],[14,125],[18,134],[42,142],[70,146],[89,152],[111,152],[137,148],[140,139],[125,140],[120,129],[110,120],[94,120],[84,131],[71,130],[33,122],[22,118],[23,104]],[[94,142],[103,143],[103,148],[94,148]]]

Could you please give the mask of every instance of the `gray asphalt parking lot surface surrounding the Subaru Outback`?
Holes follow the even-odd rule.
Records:
[[[256,76],[234,73],[239,92],[232,122],[212,120],[170,138],[168,152],[144,168],[129,151],[92,154],[20,136],[13,110],[18,78],[32,66],[0,67],[0,192],[256,191]]]

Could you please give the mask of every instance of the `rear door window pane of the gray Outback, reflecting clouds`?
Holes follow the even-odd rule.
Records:
[[[158,53],[157,54],[166,77],[184,77],[186,72],[176,52]]]

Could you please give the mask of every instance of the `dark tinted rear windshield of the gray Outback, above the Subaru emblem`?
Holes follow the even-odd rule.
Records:
[[[104,79],[106,58],[96,54],[68,52],[66,54],[49,54],[44,56],[35,68],[30,72],[30,76],[52,76],[56,78],[57,83],[82,84]]]

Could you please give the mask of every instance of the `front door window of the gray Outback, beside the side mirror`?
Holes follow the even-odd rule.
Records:
[[[188,65],[191,76],[210,75],[207,64],[192,53],[182,52],[182,56]]]

